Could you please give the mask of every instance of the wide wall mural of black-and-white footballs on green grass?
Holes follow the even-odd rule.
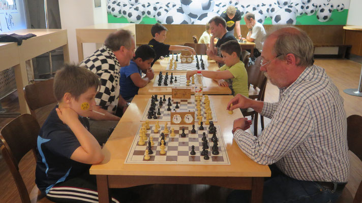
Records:
[[[262,24],[345,25],[350,0],[107,0],[109,23],[206,24],[229,5]],[[244,19],[240,24],[245,24]]]

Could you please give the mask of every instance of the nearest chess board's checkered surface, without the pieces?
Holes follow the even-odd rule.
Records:
[[[146,131],[147,140],[144,145],[138,145],[140,138],[140,129],[138,128],[137,134],[133,140],[130,151],[128,152],[125,163],[145,163],[145,164],[221,164],[229,165],[230,159],[227,154],[223,136],[220,126],[215,125],[217,132],[216,136],[219,139],[218,148],[219,154],[212,154],[212,147],[214,143],[211,141],[213,134],[208,133],[208,125],[203,125],[204,130],[199,130],[199,125],[195,125],[196,133],[191,133],[192,125],[171,125],[168,126],[169,132],[174,128],[175,137],[170,137],[170,134],[165,134],[165,151],[166,154],[160,154],[161,151],[161,132],[164,130],[164,124],[160,124],[161,128],[159,133],[154,133],[155,125],[149,125],[150,129]],[[185,128],[186,137],[180,136],[182,128]],[[202,133],[206,132],[208,140],[208,156],[209,159],[205,160],[200,153],[202,151]],[[148,148],[147,143],[149,137],[153,137],[154,146],[151,147],[153,154],[149,154],[150,159],[144,160],[145,150]],[[195,146],[195,155],[191,155],[191,146]]]

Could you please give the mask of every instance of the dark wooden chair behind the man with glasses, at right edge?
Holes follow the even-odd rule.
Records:
[[[348,148],[362,161],[362,116],[351,115],[347,118]],[[362,202],[362,181],[359,183],[353,203]]]

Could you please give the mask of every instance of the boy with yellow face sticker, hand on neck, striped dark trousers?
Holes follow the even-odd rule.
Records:
[[[100,85],[99,77],[84,67],[65,65],[56,72],[58,105],[39,132],[35,173],[39,190],[52,201],[98,202],[96,177],[89,168],[102,162],[104,154],[86,117],[94,114]]]

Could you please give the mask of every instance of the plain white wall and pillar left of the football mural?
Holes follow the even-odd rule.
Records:
[[[78,63],[75,29],[107,23],[106,0],[102,0],[101,8],[94,8],[94,0],[59,0],[59,11],[62,28],[68,31],[70,61]],[[84,57],[93,54],[96,49],[96,44],[83,44]]]

